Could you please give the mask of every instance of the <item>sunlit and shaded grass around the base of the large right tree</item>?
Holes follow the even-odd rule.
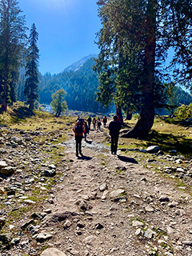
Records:
[[[129,124],[131,127],[134,123]],[[189,126],[189,124],[188,124]],[[191,133],[190,133],[191,131]],[[170,154],[170,150],[177,150],[177,154],[182,154],[186,158],[192,158],[192,128],[186,130],[186,125],[182,122],[170,122],[169,119],[155,118],[154,126],[149,134],[148,140],[137,140],[134,138],[121,138],[123,146],[118,148],[141,148],[158,145],[160,150]]]

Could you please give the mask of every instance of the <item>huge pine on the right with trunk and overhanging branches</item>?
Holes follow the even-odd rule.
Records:
[[[178,5],[185,8],[180,12]],[[161,66],[171,46],[175,63],[178,56],[182,60],[182,50],[187,53],[182,65],[190,70],[191,1],[99,0],[98,6],[98,100],[140,109],[136,126],[125,136],[146,138],[154,123],[155,74],[162,80]]]

